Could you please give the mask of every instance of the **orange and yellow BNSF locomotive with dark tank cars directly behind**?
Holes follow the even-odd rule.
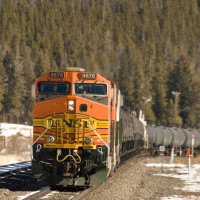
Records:
[[[33,176],[50,185],[103,182],[143,147],[144,126],[121,110],[120,90],[82,68],[34,82]]]

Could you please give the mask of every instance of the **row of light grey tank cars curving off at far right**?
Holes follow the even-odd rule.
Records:
[[[165,146],[167,154],[170,154],[172,147],[182,155],[186,155],[188,148],[194,148],[195,154],[199,152],[200,131],[197,129],[148,125],[146,130],[152,152],[157,153],[159,146]]]

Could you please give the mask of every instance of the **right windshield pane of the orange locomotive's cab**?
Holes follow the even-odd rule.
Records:
[[[99,83],[75,83],[75,93],[107,95],[107,85]]]

